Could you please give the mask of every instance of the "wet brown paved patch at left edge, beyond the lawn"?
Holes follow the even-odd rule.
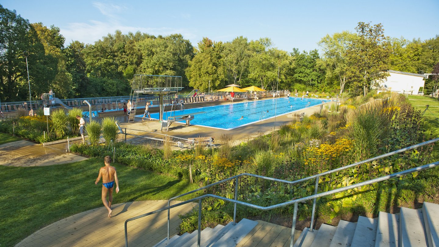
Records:
[[[87,159],[25,140],[0,145],[0,157],[0,165],[17,167],[49,166]]]

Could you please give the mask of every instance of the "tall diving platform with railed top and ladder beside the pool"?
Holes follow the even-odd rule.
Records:
[[[182,89],[181,76],[134,75],[130,94],[132,109],[128,109],[130,111],[128,122],[134,122],[139,94],[157,94],[159,96],[159,120],[161,121],[164,112],[164,95],[175,94]]]

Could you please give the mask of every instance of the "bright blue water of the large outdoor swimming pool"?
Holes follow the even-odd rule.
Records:
[[[276,106],[277,100],[277,106]],[[312,98],[273,98],[257,101],[247,101],[227,105],[213,105],[200,108],[192,108],[175,111],[175,116],[197,112],[206,112],[195,115],[191,124],[205,127],[219,128],[223,130],[231,130],[244,125],[252,124],[262,120],[274,117],[276,108],[276,116],[285,115],[299,109],[306,108],[308,102],[309,106],[320,105],[323,102],[330,102],[330,100],[312,99]],[[137,115],[137,117],[142,117]],[[163,113],[163,119],[166,120],[170,112]],[[174,115],[172,115],[174,116]],[[152,113],[151,118],[158,119],[158,113]],[[242,119],[241,119],[242,117]]]

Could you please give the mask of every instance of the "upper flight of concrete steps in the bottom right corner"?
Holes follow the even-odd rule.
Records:
[[[378,218],[341,220],[338,227],[323,224],[313,232],[305,228],[294,247],[439,247],[438,233],[439,205],[424,202],[399,214],[379,212]]]

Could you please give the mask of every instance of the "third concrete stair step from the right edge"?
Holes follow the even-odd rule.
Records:
[[[379,212],[375,247],[398,247],[399,215]]]

